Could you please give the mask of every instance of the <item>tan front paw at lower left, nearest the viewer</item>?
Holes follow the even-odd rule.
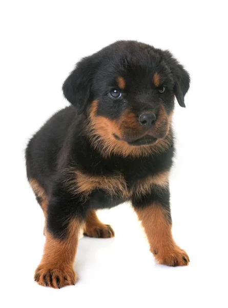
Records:
[[[60,288],[66,285],[74,285],[77,276],[69,266],[40,264],[36,268],[34,280],[40,285]]]

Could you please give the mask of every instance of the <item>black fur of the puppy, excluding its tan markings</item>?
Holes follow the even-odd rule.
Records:
[[[153,85],[154,73],[159,73],[159,94]],[[118,100],[109,92],[118,87],[116,79],[122,76],[126,88]],[[53,115],[30,140],[26,149],[28,180],[35,179],[48,196],[47,229],[56,238],[67,236],[69,218],[85,220],[88,209],[110,208],[126,198],[110,196],[96,189],[85,198],[68,189],[69,168],[93,176],[113,176],[119,172],[129,190],[137,180],[159,174],[172,166],[173,140],[160,153],[138,157],[123,157],[112,153],[102,155],[88,137],[88,114],[92,101],[97,100],[97,115],[110,120],[118,119],[131,106],[136,115],[163,105],[169,115],[174,109],[174,95],[184,107],[184,95],[189,89],[190,77],[169,51],[134,42],[114,43],[92,56],[82,59],[63,85],[66,99],[72,104]],[[157,114],[157,113],[156,113]],[[172,133],[171,139],[172,139]],[[148,206],[159,201],[169,210],[169,189],[152,189],[146,196],[132,197],[132,204]],[[40,203],[40,198],[37,198]],[[168,218],[171,221],[171,216]]]

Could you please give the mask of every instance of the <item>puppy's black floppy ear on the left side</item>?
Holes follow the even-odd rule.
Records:
[[[85,112],[92,100],[92,80],[96,69],[95,56],[81,59],[63,84],[65,98],[77,109],[77,113]]]

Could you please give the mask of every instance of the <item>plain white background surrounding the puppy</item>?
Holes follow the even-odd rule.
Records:
[[[227,11],[225,1],[2,1],[2,307],[227,307]],[[225,30],[226,28],[226,30]],[[176,104],[173,235],[188,267],[156,265],[129,204],[100,211],[114,239],[82,238],[79,281],[42,287],[44,218],[25,173],[32,134],[68,103],[61,85],[82,56],[120,39],[169,49],[191,74]]]

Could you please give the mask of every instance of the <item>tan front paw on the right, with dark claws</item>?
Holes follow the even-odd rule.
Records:
[[[154,254],[158,264],[164,264],[168,266],[183,266],[189,265],[190,262],[189,256],[183,249],[178,246],[173,249],[162,249],[161,252],[154,249],[152,253]]]

